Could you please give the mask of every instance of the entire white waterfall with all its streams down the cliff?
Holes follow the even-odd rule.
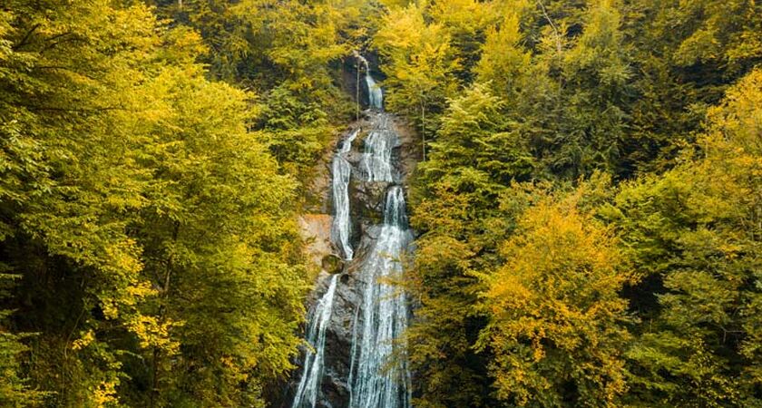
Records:
[[[386,188],[384,222],[367,228],[363,240],[368,244],[363,245],[360,256],[355,257],[350,239],[349,207],[349,180],[353,169],[351,156],[347,154],[359,133],[359,130],[353,131],[337,149],[332,163],[334,219],[331,226],[334,244],[352,264],[342,274],[331,277],[326,294],[310,315],[307,340],[314,350],[308,350],[305,357],[292,408],[410,407],[410,374],[405,345],[400,344],[399,337],[407,327],[408,307],[405,294],[390,282],[402,274],[401,258],[412,242],[404,191],[396,185],[401,179],[400,172],[393,160],[400,140],[390,116],[382,111],[383,93],[369,73],[366,83],[371,130],[358,163],[358,179],[365,191],[378,191],[368,188],[369,185]],[[339,275],[347,279],[337,279]],[[337,306],[334,306],[335,293],[338,293]],[[350,321],[351,333],[343,335]],[[332,345],[332,341],[342,343]],[[324,358],[326,349],[329,353]],[[328,379],[325,382],[324,376]]]

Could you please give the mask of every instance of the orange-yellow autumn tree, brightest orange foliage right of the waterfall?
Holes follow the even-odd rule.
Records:
[[[619,292],[634,276],[612,228],[585,209],[589,189],[535,193],[501,246],[503,265],[481,274],[481,347],[512,405],[611,406],[627,390],[631,319]]]

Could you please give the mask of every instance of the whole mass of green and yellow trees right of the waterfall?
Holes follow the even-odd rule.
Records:
[[[418,405],[757,406],[760,5],[389,7],[385,84],[428,130]],[[402,63],[414,14],[452,69]]]

